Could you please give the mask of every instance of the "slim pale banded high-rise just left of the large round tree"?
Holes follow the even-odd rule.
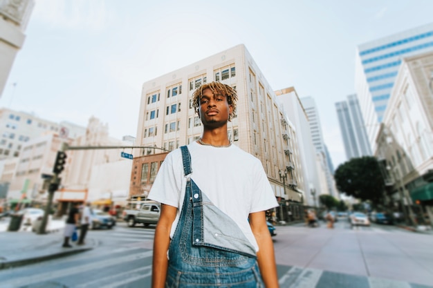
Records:
[[[310,126],[311,140],[315,147],[316,153],[320,155],[317,157],[319,163],[317,164],[320,168],[324,170],[326,183],[322,187],[322,194],[329,194],[333,197],[340,198],[338,193],[335,191],[335,184],[333,181],[333,176],[329,170],[328,160],[326,159],[326,153],[324,149],[324,139],[322,133],[322,125],[320,124],[319,111],[315,104],[313,97],[302,97],[302,106],[304,106],[306,116],[308,118],[308,125]]]

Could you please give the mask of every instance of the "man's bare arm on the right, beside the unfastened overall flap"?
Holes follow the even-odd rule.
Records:
[[[277,276],[277,265],[275,264],[274,244],[266,224],[265,212],[250,213],[250,226],[259,245],[257,262],[261,277],[266,288],[279,287]]]

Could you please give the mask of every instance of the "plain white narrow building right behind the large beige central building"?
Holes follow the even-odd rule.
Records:
[[[300,158],[300,164],[297,165],[296,169],[301,177],[303,177],[302,182],[304,186],[302,190],[306,198],[305,203],[311,207],[317,206],[316,195],[318,197],[324,191],[320,188],[322,184],[320,183],[319,171],[317,170],[315,147],[311,139],[311,133],[309,133],[308,116],[295,88],[289,87],[276,90],[275,95],[277,95],[277,99],[282,104],[284,112],[288,115],[291,123],[293,123],[294,130],[304,132],[297,133],[296,137],[296,146],[299,149],[297,157]]]

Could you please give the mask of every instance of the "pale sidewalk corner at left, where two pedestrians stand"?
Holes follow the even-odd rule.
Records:
[[[3,225],[4,226],[4,225]],[[63,227],[55,227],[51,233],[37,234],[31,231],[0,230],[0,269],[19,267],[93,249],[97,242],[86,238],[86,244],[63,248]],[[7,229],[6,229],[7,230]]]

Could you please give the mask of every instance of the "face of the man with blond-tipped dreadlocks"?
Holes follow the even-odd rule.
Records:
[[[203,90],[200,99],[199,116],[204,126],[218,127],[226,124],[233,107],[228,104],[227,97],[213,94],[210,89]]]

